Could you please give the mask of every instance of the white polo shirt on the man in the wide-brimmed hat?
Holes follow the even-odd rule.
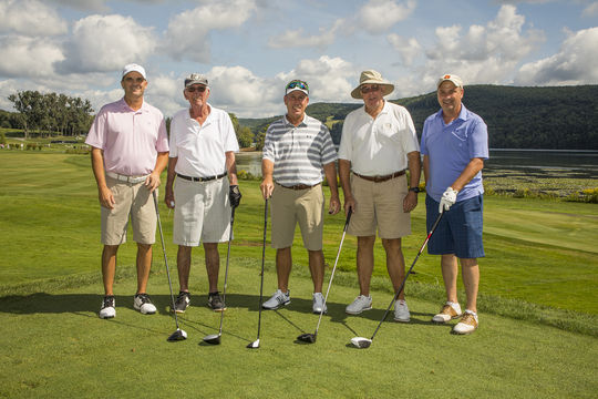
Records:
[[[384,101],[375,119],[365,106],[349,113],[342,125],[339,160],[365,176],[383,176],[408,167],[406,154],[420,151],[415,127],[405,108]]]

